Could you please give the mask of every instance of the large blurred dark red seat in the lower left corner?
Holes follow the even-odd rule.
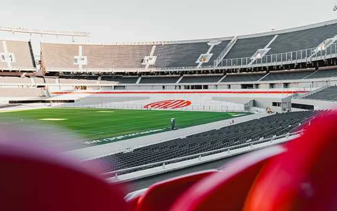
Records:
[[[0,210],[127,210],[123,188],[80,162],[7,141],[0,137]]]

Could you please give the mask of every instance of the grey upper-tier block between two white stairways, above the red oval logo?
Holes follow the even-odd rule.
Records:
[[[207,42],[164,44],[156,46],[153,56],[157,56],[154,67],[195,67],[200,54],[206,53]]]

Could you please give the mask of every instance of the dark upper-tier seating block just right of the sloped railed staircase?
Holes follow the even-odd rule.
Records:
[[[263,49],[274,35],[238,39],[225,59],[251,57],[257,49]]]

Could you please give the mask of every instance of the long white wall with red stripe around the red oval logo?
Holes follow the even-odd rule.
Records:
[[[72,106],[143,109],[145,105],[163,100],[187,100],[191,104],[183,108],[174,108],[189,111],[244,111],[244,104],[255,101],[255,107],[272,108],[281,111],[280,107],[273,107],[272,102],[281,102],[281,99],[290,96],[297,89],[231,89],[227,91],[210,90],[123,90],[111,92],[77,91],[67,94],[53,94],[53,99],[75,99]],[[69,104],[67,104],[69,106]],[[170,108],[171,109],[171,108]]]

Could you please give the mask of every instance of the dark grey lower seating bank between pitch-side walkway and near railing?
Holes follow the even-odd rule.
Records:
[[[299,123],[304,122],[317,114],[317,112],[318,111],[303,111],[275,114],[223,127],[219,130],[210,130],[193,134],[183,139],[166,141],[137,148],[132,152],[120,152],[91,161],[108,163],[110,167],[109,171],[114,171],[230,146],[240,145],[238,148],[241,148],[250,146],[250,142],[259,141],[261,138],[271,138],[274,135],[293,132],[296,127],[300,125]],[[261,140],[261,142],[264,141]],[[226,151],[226,149],[224,149],[224,151]],[[158,165],[154,164],[142,169],[153,168],[156,166]],[[125,173],[132,171],[134,170],[129,170]]]

